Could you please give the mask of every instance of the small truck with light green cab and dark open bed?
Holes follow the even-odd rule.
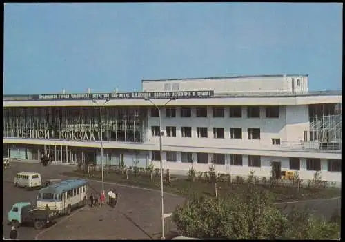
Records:
[[[57,212],[47,210],[38,210],[31,203],[14,203],[10,212],[8,212],[8,221],[12,226],[19,227],[22,224],[33,225],[35,229],[41,230],[48,224],[54,223]]]

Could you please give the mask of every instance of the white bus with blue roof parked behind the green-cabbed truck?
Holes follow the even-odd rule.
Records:
[[[84,179],[70,179],[50,185],[39,190],[37,208],[57,211],[59,214],[70,214],[73,208],[86,205],[88,181]]]

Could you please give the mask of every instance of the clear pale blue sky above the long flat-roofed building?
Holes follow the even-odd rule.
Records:
[[[4,94],[142,79],[308,74],[342,90],[339,3],[6,3]]]

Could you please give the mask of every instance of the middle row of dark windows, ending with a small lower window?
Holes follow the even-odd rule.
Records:
[[[159,136],[159,126],[151,126],[152,136]],[[260,139],[260,128],[248,128],[248,139]],[[162,134],[164,135],[164,134]],[[166,126],[166,136],[176,137],[176,127]],[[192,137],[192,127],[181,127],[181,137]],[[197,127],[198,138],[208,138],[207,127]],[[213,128],[213,138],[224,139],[225,128]],[[242,128],[230,128],[230,139],[242,139]],[[274,145],[280,144],[280,139],[272,139]]]

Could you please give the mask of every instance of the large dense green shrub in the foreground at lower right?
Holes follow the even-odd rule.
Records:
[[[270,194],[253,184],[231,199],[193,196],[172,219],[183,236],[200,239],[336,239],[340,231],[339,223],[317,219],[307,210],[283,214]]]

